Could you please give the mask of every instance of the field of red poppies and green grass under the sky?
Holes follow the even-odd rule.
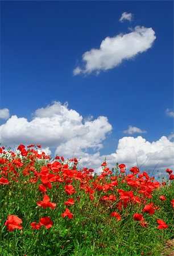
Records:
[[[0,147],[0,255],[167,255],[172,170],[160,183],[138,167],[103,162],[97,175],[40,147]]]

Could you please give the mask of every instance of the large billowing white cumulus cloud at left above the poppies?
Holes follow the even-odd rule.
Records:
[[[68,146],[69,151],[80,148],[101,148],[102,141],[112,127],[106,117],[93,121],[82,118],[68,104],[53,102],[35,111],[31,121],[12,115],[0,126],[2,144],[42,144],[43,147]],[[80,145],[80,146],[79,146]]]

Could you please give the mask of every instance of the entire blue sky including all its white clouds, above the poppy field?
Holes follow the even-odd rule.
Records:
[[[173,168],[173,1],[1,1],[0,109],[2,144]]]

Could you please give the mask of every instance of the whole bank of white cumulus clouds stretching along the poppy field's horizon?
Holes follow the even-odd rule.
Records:
[[[135,132],[137,127],[129,129]],[[83,118],[76,110],[68,109],[68,104],[53,102],[45,108],[37,109],[31,121],[27,118],[11,116],[0,126],[2,145],[42,144],[48,154],[63,155],[65,158],[80,159],[80,168],[93,168],[101,171],[105,160],[110,168],[115,164],[125,163],[127,168],[143,166],[142,171],[159,170],[174,167],[174,142],[163,136],[158,141],[148,142],[141,136],[119,139],[115,152],[101,155],[100,149],[112,126],[106,117],[96,119]],[[136,130],[140,133],[141,130]]]

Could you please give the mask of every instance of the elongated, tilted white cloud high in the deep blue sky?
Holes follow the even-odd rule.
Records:
[[[156,36],[152,28],[136,26],[129,34],[105,38],[100,49],[91,49],[82,55],[84,68],[74,69],[74,75],[80,73],[106,71],[117,67],[123,60],[128,60],[152,47]]]

